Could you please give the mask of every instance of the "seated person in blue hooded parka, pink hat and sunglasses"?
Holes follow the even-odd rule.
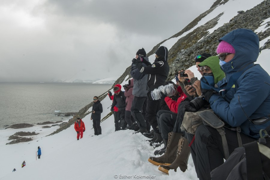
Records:
[[[237,133],[232,128],[225,128],[231,154],[241,143],[257,140],[259,130],[270,125],[267,121],[270,114],[270,76],[259,64],[254,64],[259,56],[259,38],[252,30],[235,29],[219,42],[217,54],[225,77],[217,83],[218,88],[202,88],[201,81],[201,91],[226,126],[241,131]],[[264,120],[256,124],[252,122],[256,118]],[[197,176],[203,180],[211,179],[211,170],[223,164],[225,158],[221,136],[216,129],[202,124],[196,129],[194,143],[196,148],[191,150],[191,154]]]

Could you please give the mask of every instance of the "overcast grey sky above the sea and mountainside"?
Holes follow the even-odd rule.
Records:
[[[120,76],[215,0],[1,0],[0,82]]]

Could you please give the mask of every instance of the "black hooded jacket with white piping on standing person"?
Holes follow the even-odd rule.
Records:
[[[168,64],[168,49],[165,46],[160,46],[156,52],[159,58],[155,59],[155,62],[152,65],[148,65],[143,67],[143,63],[138,58],[136,60],[136,66],[140,70],[140,73],[149,74],[147,85],[149,87],[149,91],[158,88],[161,85],[164,85],[165,80],[169,74],[169,64]]]

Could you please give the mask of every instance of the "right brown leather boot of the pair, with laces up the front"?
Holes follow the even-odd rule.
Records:
[[[169,170],[174,170],[176,172],[176,169],[180,167],[180,170],[185,172],[187,170],[187,160],[189,158],[189,155],[190,147],[188,147],[188,141],[182,136],[179,140],[176,159],[169,166],[161,165],[160,167],[158,167],[158,170],[162,171],[163,173],[169,174]]]

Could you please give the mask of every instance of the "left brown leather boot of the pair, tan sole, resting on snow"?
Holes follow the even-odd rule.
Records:
[[[177,144],[181,138],[182,133],[169,133],[169,139],[167,143],[167,149],[164,155],[160,157],[150,157],[148,161],[156,166],[159,165],[170,165],[176,158]]]

